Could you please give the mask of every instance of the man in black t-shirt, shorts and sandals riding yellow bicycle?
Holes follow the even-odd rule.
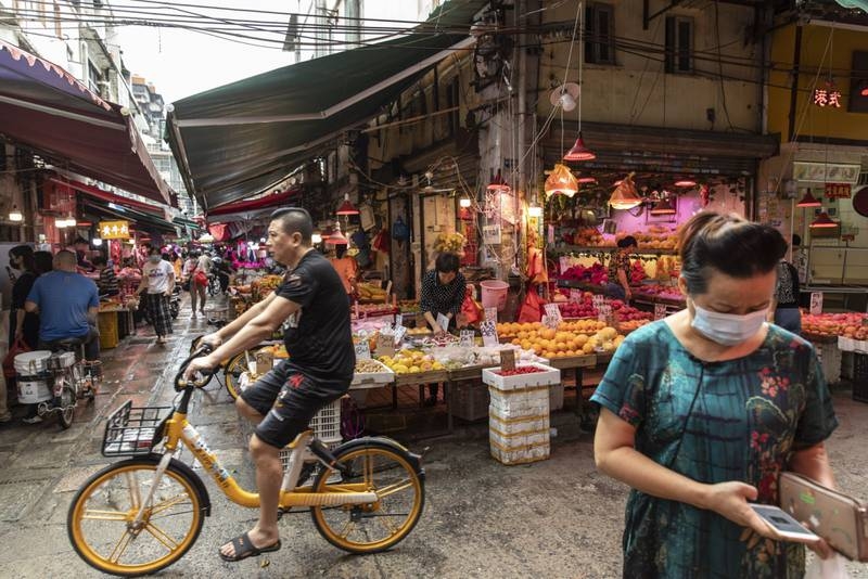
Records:
[[[220,548],[225,561],[280,549],[278,501],[283,472],[279,452],[307,429],[322,407],[343,396],[353,379],[356,359],[349,303],[334,268],[311,246],[312,231],[305,209],[290,207],[271,214],[267,245],[273,259],[288,268],[283,283],[239,319],[204,336],[203,342],[216,349],[194,359],[184,374],[190,379],[199,371],[214,369],[283,325],[290,358],[235,401],[239,412],[257,424],[250,451],[260,506],[256,526]]]

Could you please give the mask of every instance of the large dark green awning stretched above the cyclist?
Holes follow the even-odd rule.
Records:
[[[330,54],[173,104],[167,140],[187,190],[209,208],[285,178],[367,123],[431,65],[473,43],[486,2],[451,0],[412,34]]]

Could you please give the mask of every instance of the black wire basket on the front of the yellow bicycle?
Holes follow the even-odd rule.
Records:
[[[136,408],[128,400],[105,423],[103,456],[150,454],[163,439],[163,427],[171,411],[171,407]]]

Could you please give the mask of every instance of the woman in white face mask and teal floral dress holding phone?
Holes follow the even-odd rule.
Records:
[[[631,333],[591,398],[597,466],[633,488],[624,577],[802,577],[804,548],[767,539],[748,506],[778,504],[781,471],[834,486],[817,358],[765,323],[787,244],[712,213],[680,235],[687,309]]]

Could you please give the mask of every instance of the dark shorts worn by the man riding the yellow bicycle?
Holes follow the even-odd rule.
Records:
[[[265,417],[256,426],[259,440],[283,448],[307,429],[319,410],[346,393],[327,387],[283,360],[241,393],[241,398]]]

